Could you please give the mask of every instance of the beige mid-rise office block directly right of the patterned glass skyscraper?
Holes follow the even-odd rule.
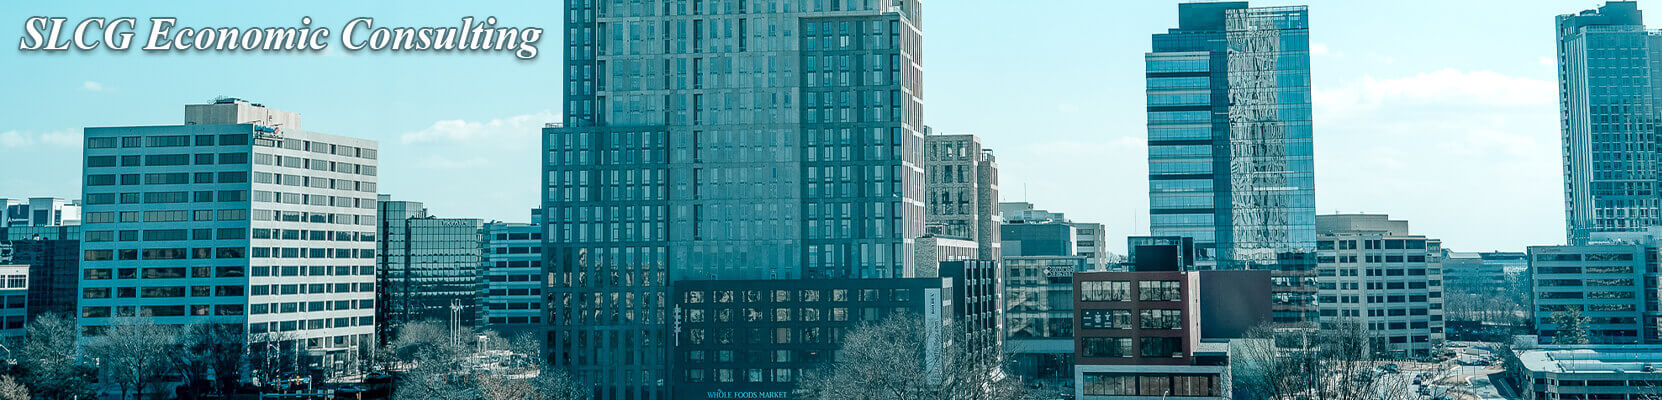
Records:
[[[1386,214],[1316,216],[1321,327],[1361,324],[1388,352],[1424,357],[1444,340],[1443,242]]]

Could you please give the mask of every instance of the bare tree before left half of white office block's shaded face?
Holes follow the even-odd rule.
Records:
[[[175,329],[156,325],[148,317],[123,317],[93,339],[86,354],[98,359],[106,377],[121,388],[121,398],[161,380],[170,372],[175,352]]]

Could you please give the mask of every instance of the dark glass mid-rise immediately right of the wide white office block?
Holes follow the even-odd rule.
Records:
[[[376,279],[381,299],[376,324],[391,340],[399,324],[442,322],[474,327],[479,322],[480,231],[472,217],[435,217],[416,201],[381,194]]]

